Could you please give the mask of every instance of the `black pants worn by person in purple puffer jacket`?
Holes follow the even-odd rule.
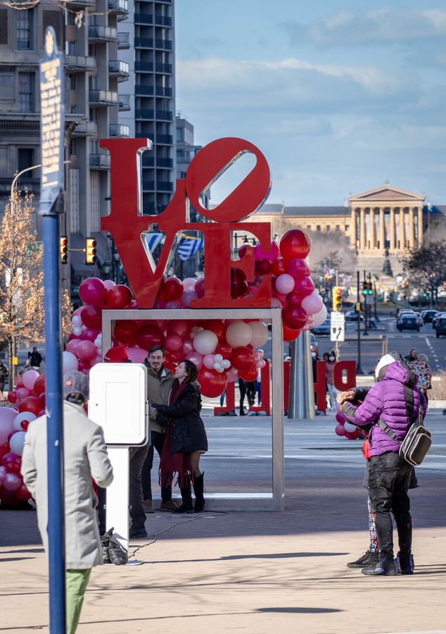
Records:
[[[396,452],[388,452],[369,459],[369,496],[375,514],[379,552],[393,557],[393,524],[395,518],[400,552],[412,549],[412,516],[407,491],[412,466]]]

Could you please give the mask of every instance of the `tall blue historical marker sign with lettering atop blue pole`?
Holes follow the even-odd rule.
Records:
[[[40,147],[42,175],[39,213],[49,213],[63,189],[65,118],[63,106],[63,57],[58,52],[53,27],[45,29],[45,54],[39,64]]]

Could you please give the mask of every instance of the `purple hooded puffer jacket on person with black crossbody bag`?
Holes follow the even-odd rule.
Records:
[[[378,419],[381,418],[401,442],[416,420],[420,406],[423,407],[423,415],[426,415],[424,397],[416,387],[416,375],[404,363],[394,361],[381,368],[378,382],[371,387],[362,405],[345,403],[343,414],[358,427],[371,425],[370,456],[379,456],[398,452],[400,445],[381,430]]]

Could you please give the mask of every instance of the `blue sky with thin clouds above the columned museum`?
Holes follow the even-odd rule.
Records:
[[[444,0],[177,0],[175,21],[177,110],[198,144],[256,144],[269,202],[388,181],[446,204]]]

